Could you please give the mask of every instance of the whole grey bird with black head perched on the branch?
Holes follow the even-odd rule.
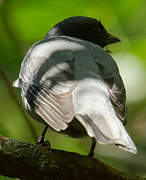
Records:
[[[38,143],[50,127],[73,138],[91,137],[91,157],[96,142],[137,153],[124,127],[124,83],[115,60],[104,50],[119,41],[101,20],[73,16],[29,49],[13,86],[21,88],[28,114],[45,125]]]

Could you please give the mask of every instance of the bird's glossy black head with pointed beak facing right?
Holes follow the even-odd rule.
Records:
[[[70,17],[59,22],[47,33],[44,39],[61,35],[84,39],[101,47],[120,41],[109,34],[100,21],[84,16]]]

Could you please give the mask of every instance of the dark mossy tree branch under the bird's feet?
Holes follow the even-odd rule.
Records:
[[[0,174],[21,180],[144,180],[77,153],[0,136]]]

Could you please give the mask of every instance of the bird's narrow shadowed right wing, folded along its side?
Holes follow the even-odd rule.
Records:
[[[100,66],[101,76],[107,84],[114,110],[125,125],[127,122],[126,91],[117,64],[107,53],[96,57],[96,63]]]

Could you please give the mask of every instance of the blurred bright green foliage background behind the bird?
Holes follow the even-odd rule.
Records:
[[[0,66],[11,83],[33,43],[57,22],[70,16],[101,18],[121,39],[109,48],[119,64],[127,89],[127,130],[138,154],[97,146],[96,157],[123,171],[146,176],[146,1],[145,0],[0,0]],[[20,90],[14,89],[19,101]],[[39,135],[43,125],[30,119]],[[34,142],[31,131],[0,77],[0,134]],[[48,131],[53,148],[87,154],[90,139],[76,140]],[[10,178],[0,176],[0,180]]]

